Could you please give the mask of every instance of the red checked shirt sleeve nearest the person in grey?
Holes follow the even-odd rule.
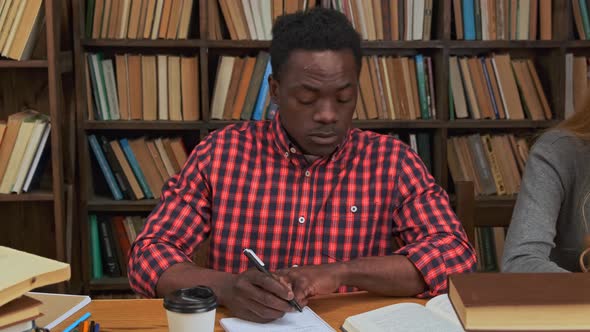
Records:
[[[406,256],[422,274],[428,290],[418,296],[435,296],[447,291],[448,275],[475,270],[474,249],[446,192],[412,150],[405,152],[394,183],[400,204],[393,231],[406,245],[395,254]]]

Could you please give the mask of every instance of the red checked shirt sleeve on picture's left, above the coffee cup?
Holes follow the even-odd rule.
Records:
[[[190,262],[195,248],[211,229],[211,188],[206,172],[209,142],[197,145],[180,174],[163,188],[160,202],[131,247],[128,262],[131,288],[156,296],[156,285],[172,265]]]

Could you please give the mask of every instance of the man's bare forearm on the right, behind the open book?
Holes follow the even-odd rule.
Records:
[[[405,256],[364,257],[342,265],[346,286],[390,296],[414,296],[426,290],[422,274]]]

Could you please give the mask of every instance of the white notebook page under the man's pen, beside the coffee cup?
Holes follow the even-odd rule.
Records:
[[[303,312],[289,312],[270,323],[261,324],[239,318],[222,318],[219,323],[226,332],[335,332],[309,307]]]

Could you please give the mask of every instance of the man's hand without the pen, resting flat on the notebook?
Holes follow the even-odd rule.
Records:
[[[342,286],[344,264],[323,264],[292,267],[277,271],[292,286],[295,300],[304,307],[316,295],[330,294]]]

